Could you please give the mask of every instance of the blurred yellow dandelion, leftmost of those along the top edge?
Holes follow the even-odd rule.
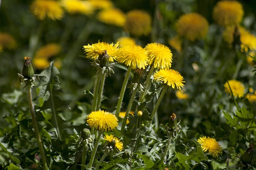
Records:
[[[54,0],[35,0],[30,9],[40,20],[44,20],[46,16],[52,20],[60,20],[64,15],[63,9]]]

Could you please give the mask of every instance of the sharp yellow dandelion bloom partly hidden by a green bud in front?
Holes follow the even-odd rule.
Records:
[[[102,53],[104,53],[104,50],[106,50],[109,55],[109,61],[113,62],[114,60],[116,60],[118,45],[119,45],[118,42],[116,44],[98,42],[92,45],[90,44],[84,45],[83,47],[84,47],[84,51],[86,53],[87,58],[96,60],[100,55],[102,55]]]

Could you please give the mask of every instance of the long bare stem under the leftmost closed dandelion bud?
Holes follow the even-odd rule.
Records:
[[[44,170],[48,170],[48,164],[46,161],[46,155],[44,154],[44,145],[41,141],[41,137],[39,135],[39,129],[38,129],[38,125],[37,125],[37,121],[36,121],[36,115],[34,112],[34,105],[32,102],[32,93],[31,93],[31,84],[28,83],[28,102],[29,102],[29,107],[30,107],[30,113],[31,113],[31,118],[32,118],[32,123],[33,123],[33,127],[34,127],[34,131],[35,131],[35,135],[36,135],[36,141],[38,144],[38,148],[41,154],[41,158],[42,158],[42,162],[43,162],[43,166],[44,166]]]

